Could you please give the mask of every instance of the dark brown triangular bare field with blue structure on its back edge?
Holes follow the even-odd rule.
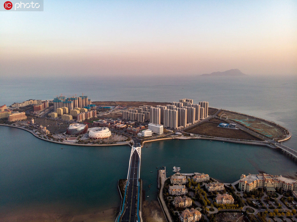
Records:
[[[242,130],[222,128],[218,127],[218,125],[219,123],[205,122],[197,127],[187,130],[186,132],[231,139],[260,140]]]

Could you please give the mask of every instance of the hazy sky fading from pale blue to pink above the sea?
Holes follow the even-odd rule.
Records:
[[[296,0],[44,0],[0,21],[0,76],[297,76]]]

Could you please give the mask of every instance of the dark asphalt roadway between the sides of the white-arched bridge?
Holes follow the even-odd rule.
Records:
[[[122,222],[136,222],[137,206],[138,206],[138,174],[139,174],[139,156],[136,151],[132,154],[131,164],[129,169],[128,186],[126,193],[125,210],[121,217]]]

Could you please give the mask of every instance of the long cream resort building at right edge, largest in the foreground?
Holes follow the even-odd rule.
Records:
[[[282,189],[284,191],[297,191],[297,181],[286,177],[269,175],[266,173],[248,176],[242,174],[240,177],[239,189],[242,191],[251,191],[257,188],[264,188],[270,192],[275,189]]]

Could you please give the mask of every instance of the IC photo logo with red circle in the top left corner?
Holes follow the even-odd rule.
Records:
[[[5,1],[0,11],[43,11],[43,0]]]

